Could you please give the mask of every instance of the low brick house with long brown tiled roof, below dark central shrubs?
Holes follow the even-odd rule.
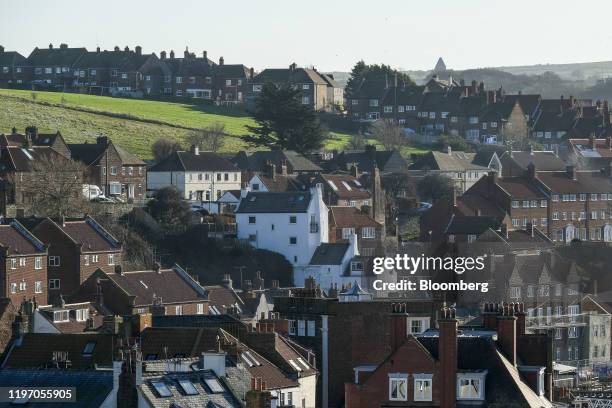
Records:
[[[116,315],[208,314],[206,290],[178,266],[148,271],[115,272],[98,269],[87,279],[75,299],[97,299]]]

